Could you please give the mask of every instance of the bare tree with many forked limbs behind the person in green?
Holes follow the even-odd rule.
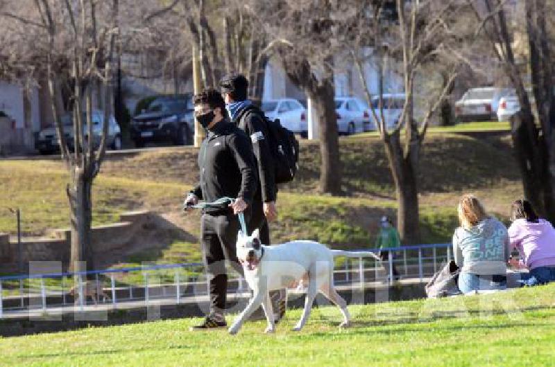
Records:
[[[384,142],[386,156],[395,183],[398,201],[398,227],[403,242],[413,244],[420,240],[418,213],[418,161],[429,120],[447,96],[456,77],[459,62],[449,57],[446,44],[456,38],[448,26],[459,7],[455,1],[401,1],[395,6],[391,1],[373,1],[359,11],[361,23],[367,24],[366,32],[353,37],[355,48],[352,56],[361,83],[366,91],[373,118],[377,121],[379,136]],[[393,9],[393,10],[392,10]],[[384,11],[388,10],[385,14]],[[371,47],[370,55],[377,64],[377,108],[364,75],[364,55],[361,46]],[[358,48],[357,48],[358,47]],[[397,62],[404,87],[404,104],[401,116],[393,128],[386,126],[384,118],[384,68]],[[415,83],[424,71],[423,66],[434,63],[447,76],[433,98],[427,100],[423,116],[415,118]],[[441,67],[438,67],[441,65]],[[425,72],[425,71],[424,71]],[[429,76],[428,76],[429,78]],[[418,86],[418,91],[422,88]]]

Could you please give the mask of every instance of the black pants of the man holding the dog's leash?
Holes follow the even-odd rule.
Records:
[[[248,221],[248,213],[245,220]],[[201,242],[206,271],[210,280],[210,314],[222,314],[228,292],[228,274],[225,259],[244,276],[243,267],[237,261],[237,231],[239,218],[233,213],[223,215],[203,214],[200,221]]]

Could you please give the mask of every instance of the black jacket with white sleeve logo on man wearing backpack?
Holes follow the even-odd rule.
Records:
[[[253,144],[259,177],[255,199],[260,199],[262,195],[263,202],[275,202],[278,190],[275,186],[273,156],[268,143],[268,127],[262,114],[257,107],[248,106],[239,112],[233,123],[246,132]]]

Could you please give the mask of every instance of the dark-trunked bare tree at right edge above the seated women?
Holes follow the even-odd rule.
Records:
[[[468,0],[479,20],[477,35],[484,35],[515,88],[520,113],[511,119],[515,153],[522,173],[524,196],[555,222],[555,99],[552,63],[552,35],[546,19],[554,8],[545,0],[525,0],[522,13],[513,12],[507,19],[505,0]],[[521,16],[521,17],[519,17]],[[518,25],[521,25],[519,30]],[[513,25],[513,26],[511,26]],[[524,33],[527,55],[523,64],[515,56],[513,39]],[[527,66],[527,67],[526,67]],[[526,91],[527,70],[536,101],[538,123]]]

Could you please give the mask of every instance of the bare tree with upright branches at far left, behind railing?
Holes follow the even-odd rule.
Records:
[[[28,51],[19,56],[27,60],[28,68],[42,70],[46,75],[58,143],[71,177],[67,184],[71,208],[70,265],[74,270],[83,270],[81,262],[85,261],[87,268],[92,269],[92,184],[108,143],[112,54],[118,32],[119,0],[35,0],[10,5],[12,7],[2,14],[4,19],[23,24],[32,29],[35,36],[27,40],[26,49],[22,47],[14,52],[17,55],[18,51]],[[31,52],[33,46],[37,51]],[[62,111],[56,102],[60,95],[60,80],[67,80],[71,86],[74,152],[70,152],[60,119]],[[99,85],[102,85],[105,108],[101,140],[97,146],[92,127],[92,100],[95,86]]]

